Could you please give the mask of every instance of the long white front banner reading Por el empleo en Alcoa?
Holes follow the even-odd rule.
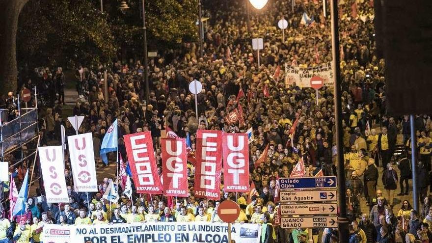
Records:
[[[259,243],[260,224],[232,224],[237,243]],[[93,243],[228,243],[228,224],[211,222],[155,222],[59,226],[47,224],[44,242]],[[69,239],[68,239],[69,238]]]

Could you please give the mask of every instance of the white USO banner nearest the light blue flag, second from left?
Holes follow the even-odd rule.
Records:
[[[91,133],[68,136],[75,191],[98,191]]]

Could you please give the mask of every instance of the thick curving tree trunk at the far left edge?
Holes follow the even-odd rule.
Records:
[[[16,33],[27,0],[0,0],[0,89],[17,89]]]

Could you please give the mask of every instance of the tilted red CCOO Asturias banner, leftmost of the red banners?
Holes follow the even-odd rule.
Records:
[[[136,192],[162,194],[150,131],[123,137]]]

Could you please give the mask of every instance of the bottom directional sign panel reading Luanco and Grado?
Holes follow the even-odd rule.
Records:
[[[281,226],[285,229],[333,228],[337,227],[337,216],[282,217]]]

